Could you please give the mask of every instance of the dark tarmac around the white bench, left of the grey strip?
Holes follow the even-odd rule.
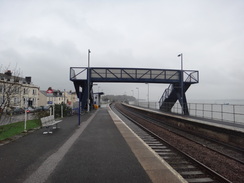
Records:
[[[91,115],[92,113],[84,115],[82,121],[86,121]],[[77,124],[77,116],[67,117],[51,135],[43,135],[43,128],[0,146],[0,182],[24,182],[70,138],[77,129]]]

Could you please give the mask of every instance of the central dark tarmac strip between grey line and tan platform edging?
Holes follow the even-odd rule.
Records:
[[[151,182],[106,109],[91,123],[46,182]]]

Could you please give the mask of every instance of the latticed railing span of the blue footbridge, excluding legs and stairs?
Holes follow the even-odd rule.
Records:
[[[91,82],[149,82],[177,83],[181,79],[181,70],[148,68],[104,68],[71,67],[70,80],[87,80]],[[184,70],[185,82],[197,83],[198,71]]]

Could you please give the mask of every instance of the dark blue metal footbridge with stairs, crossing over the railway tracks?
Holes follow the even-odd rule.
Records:
[[[183,113],[188,115],[185,92],[191,84],[199,82],[199,72],[148,68],[71,67],[70,80],[74,83],[82,109],[93,104],[93,83],[166,83],[169,87],[159,101],[160,109],[170,112],[178,100]]]

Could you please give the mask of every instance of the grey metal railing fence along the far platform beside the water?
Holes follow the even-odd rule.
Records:
[[[148,102],[140,102],[139,106],[148,107]],[[150,102],[149,108],[159,109],[158,102]],[[241,104],[188,103],[188,109],[193,117],[244,124],[244,105]],[[182,114],[181,105],[177,102],[171,112]]]

